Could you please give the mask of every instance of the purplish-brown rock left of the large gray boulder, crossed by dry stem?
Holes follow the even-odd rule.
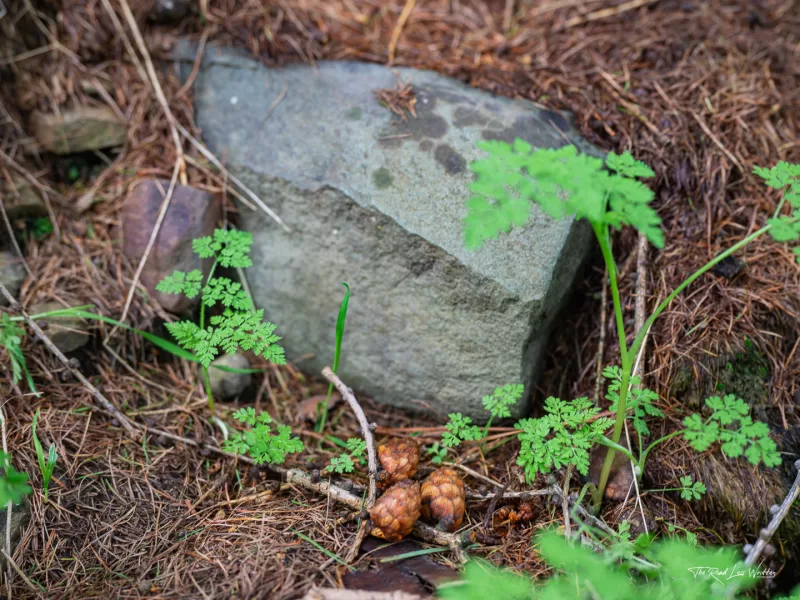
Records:
[[[122,250],[133,265],[138,265],[158,219],[161,203],[169,189],[169,181],[148,179],[131,190],[122,209]],[[192,252],[192,240],[214,233],[220,218],[217,199],[203,190],[176,185],[158,237],[147,258],[141,282],[166,310],[183,313],[190,310],[199,297],[162,294],[155,286],[173,271],[189,272],[211,268],[211,260],[201,260]]]

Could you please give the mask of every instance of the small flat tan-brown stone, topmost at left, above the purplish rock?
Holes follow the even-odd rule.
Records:
[[[122,146],[128,135],[128,124],[107,106],[35,111],[30,124],[39,145],[56,154]]]

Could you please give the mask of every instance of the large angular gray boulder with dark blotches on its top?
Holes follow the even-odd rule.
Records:
[[[416,92],[416,118],[375,98],[398,78]],[[468,164],[482,139],[596,152],[565,115],[431,72],[268,69],[216,49],[195,92],[204,141],[291,228],[242,208],[255,237],[248,280],[290,359],[312,373],[332,362],[346,281],[339,373],[356,390],[481,416],[495,386],[532,389],[588,232],[534,209],[527,227],[467,251]]]

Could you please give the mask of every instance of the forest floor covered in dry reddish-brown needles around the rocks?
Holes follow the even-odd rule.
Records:
[[[432,69],[570,111],[589,141],[609,151],[630,150],[657,175],[665,250],[637,260],[635,235],[615,239],[631,322],[637,292],[654,306],[771,215],[778,197],[754,177],[753,166],[800,162],[800,11],[793,1],[202,0],[171,24],[154,12],[156,2],[129,1],[156,63],[176,39],[189,38],[243,47],[268,65],[349,59]],[[173,123],[145,72],[147,61],[133,50],[138,45],[123,10],[126,0],[16,4],[0,19],[0,174],[9,182],[27,178],[46,196],[56,224],[44,235],[30,222],[10,224],[29,269],[18,300],[23,308],[45,301],[92,304],[120,318],[136,265],[116,241],[119,212],[137,178],[170,178],[180,158]],[[169,75],[160,81],[174,120],[199,139],[191,88]],[[99,100],[98,88],[107,90]],[[124,148],[104,156],[102,169],[84,167],[85,157],[70,163],[30,151],[32,111],[98,102],[129,121]],[[202,158],[182,143],[187,156]],[[222,196],[226,219],[235,223],[222,179],[195,165],[185,164],[187,182]],[[717,488],[692,505],[675,494],[643,493],[656,531],[672,523],[708,543],[755,539],[766,509],[780,499],[780,481],[794,478],[788,465],[798,457],[800,440],[800,268],[789,250],[766,240],[737,259],[732,272],[709,273],[676,299],[652,331],[643,369],[667,415],[655,435],[674,429],[684,407],[696,408],[703,394],[722,385],[751,394],[748,402],[787,453],[787,467],[777,476],[719,457],[698,458],[678,438],[653,456],[646,488],[673,487],[687,470]],[[603,280],[596,261],[553,336],[537,399],[597,397],[598,365],[618,356]],[[126,322],[162,328],[161,309],[142,293],[132,298]],[[350,567],[329,560],[329,553],[345,556],[353,544],[355,522],[335,525],[350,509],[295,485],[276,485],[274,473],[206,447],[216,444],[217,432],[190,364],[132,332],[119,330],[105,341],[111,328],[93,327],[90,343],[71,357],[136,424],[136,435],[98,410],[86,386],[26,336],[23,350],[41,396],[8,378],[0,382],[8,447],[36,489],[30,523],[13,552],[17,569],[6,584],[9,594],[282,599],[301,597],[312,585],[340,586],[351,568],[383,568],[368,553]],[[299,403],[327,388],[314,374],[291,365],[255,366],[263,371],[251,387],[235,405],[220,403],[218,410],[230,420],[233,410],[252,403],[291,424],[307,450],[285,466],[322,470],[339,452],[332,437],[359,435],[344,403],[332,412],[331,437],[298,417]],[[426,429],[445,423],[433,409],[408,414],[362,402],[379,439],[414,435],[425,447],[440,439],[440,431]],[[45,447],[55,443],[59,456],[47,501],[31,442],[37,410],[38,435]],[[472,471],[464,471],[470,492],[491,494],[506,485],[522,490],[517,450],[513,441],[484,456],[467,445],[448,460]],[[423,453],[421,470],[431,467]],[[365,483],[359,475],[351,479]],[[579,482],[573,485],[578,489]],[[634,504],[635,498],[608,502],[603,516],[609,523],[630,519]],[[492,513],[512,505],[518,508],[501,501]],[[527,518],[513,524],[499,523],[489,508],[486,501],[468,505],[464,529],[477,540],[470,552],[545,574],[531,537],[563,526],[560,507],[532,501]],[[796,568],[797,544],[791,548],[778,553],[776,570],[786,560]],[[458,566],[450,553],[435,557]]]

